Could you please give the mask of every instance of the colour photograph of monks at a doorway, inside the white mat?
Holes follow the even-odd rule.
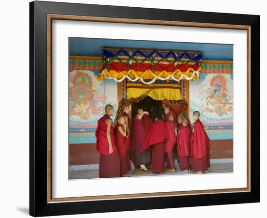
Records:
[[[233,45],[69,38],[69,179],[233,173]]]

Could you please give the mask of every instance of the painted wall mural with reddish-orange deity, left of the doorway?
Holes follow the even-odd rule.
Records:
[[[95,143],[98,119],[111,104],[117,112],[117,82],[96,78],[99,71],[71,70],[69,72],[69,143]],[[112,92],[111,92],[112,90]],[[114,117],[111,117],[113,120]]]

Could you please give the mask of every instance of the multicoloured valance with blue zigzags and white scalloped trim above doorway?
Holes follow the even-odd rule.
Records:
[[[103,48],[103,67],[98,79],[122,82],[140,80],[152,84],[160,80],[199,80],[200,51],[163,51],[148,49]],[[150,79],[150,81],[147,81]]]

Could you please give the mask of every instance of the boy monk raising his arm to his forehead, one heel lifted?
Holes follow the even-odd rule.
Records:
[[[138,109],[136,116],[133,118],[133,131],[132,131],[132,154],[133,162],[136,168],[140,167],[140,170],[148,171],[146,164],[151,162],[151,152],[149,149],[139,153],[141,145],[145,140],[145,125],[143,122],[143,116],[149,115],[147,111]]]

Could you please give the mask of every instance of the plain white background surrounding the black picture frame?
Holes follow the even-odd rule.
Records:
[[[267,49],[267,15],[263,0],[64,0],[65,2],[166,8],[261,16],[261,135],[267,128],[267,107],[264,82],[267,74],[264,59]],[[29,214],[29,0],[2,1],[0,7],[0,217],[20,218]],[[16,61],[14,61],[16,60]],[[13,70],[13,66],[19,66]],[[254,72],[258,73],[258,72]],[[265,95],[265,96],[264,96]],[[265,128],[264,128],[265,127]],[[267,206],[267,141],[261,139],[261,202],[192,208],[173,208],[109,214],[75,215],[68,217],[265,217]],[[260,145],[259,145],[260,146]],[[264,215],[265,214],[265,215]],[[65,216],[64,216],[65,217]],[[67,216],[66,216],[67,217]]]

